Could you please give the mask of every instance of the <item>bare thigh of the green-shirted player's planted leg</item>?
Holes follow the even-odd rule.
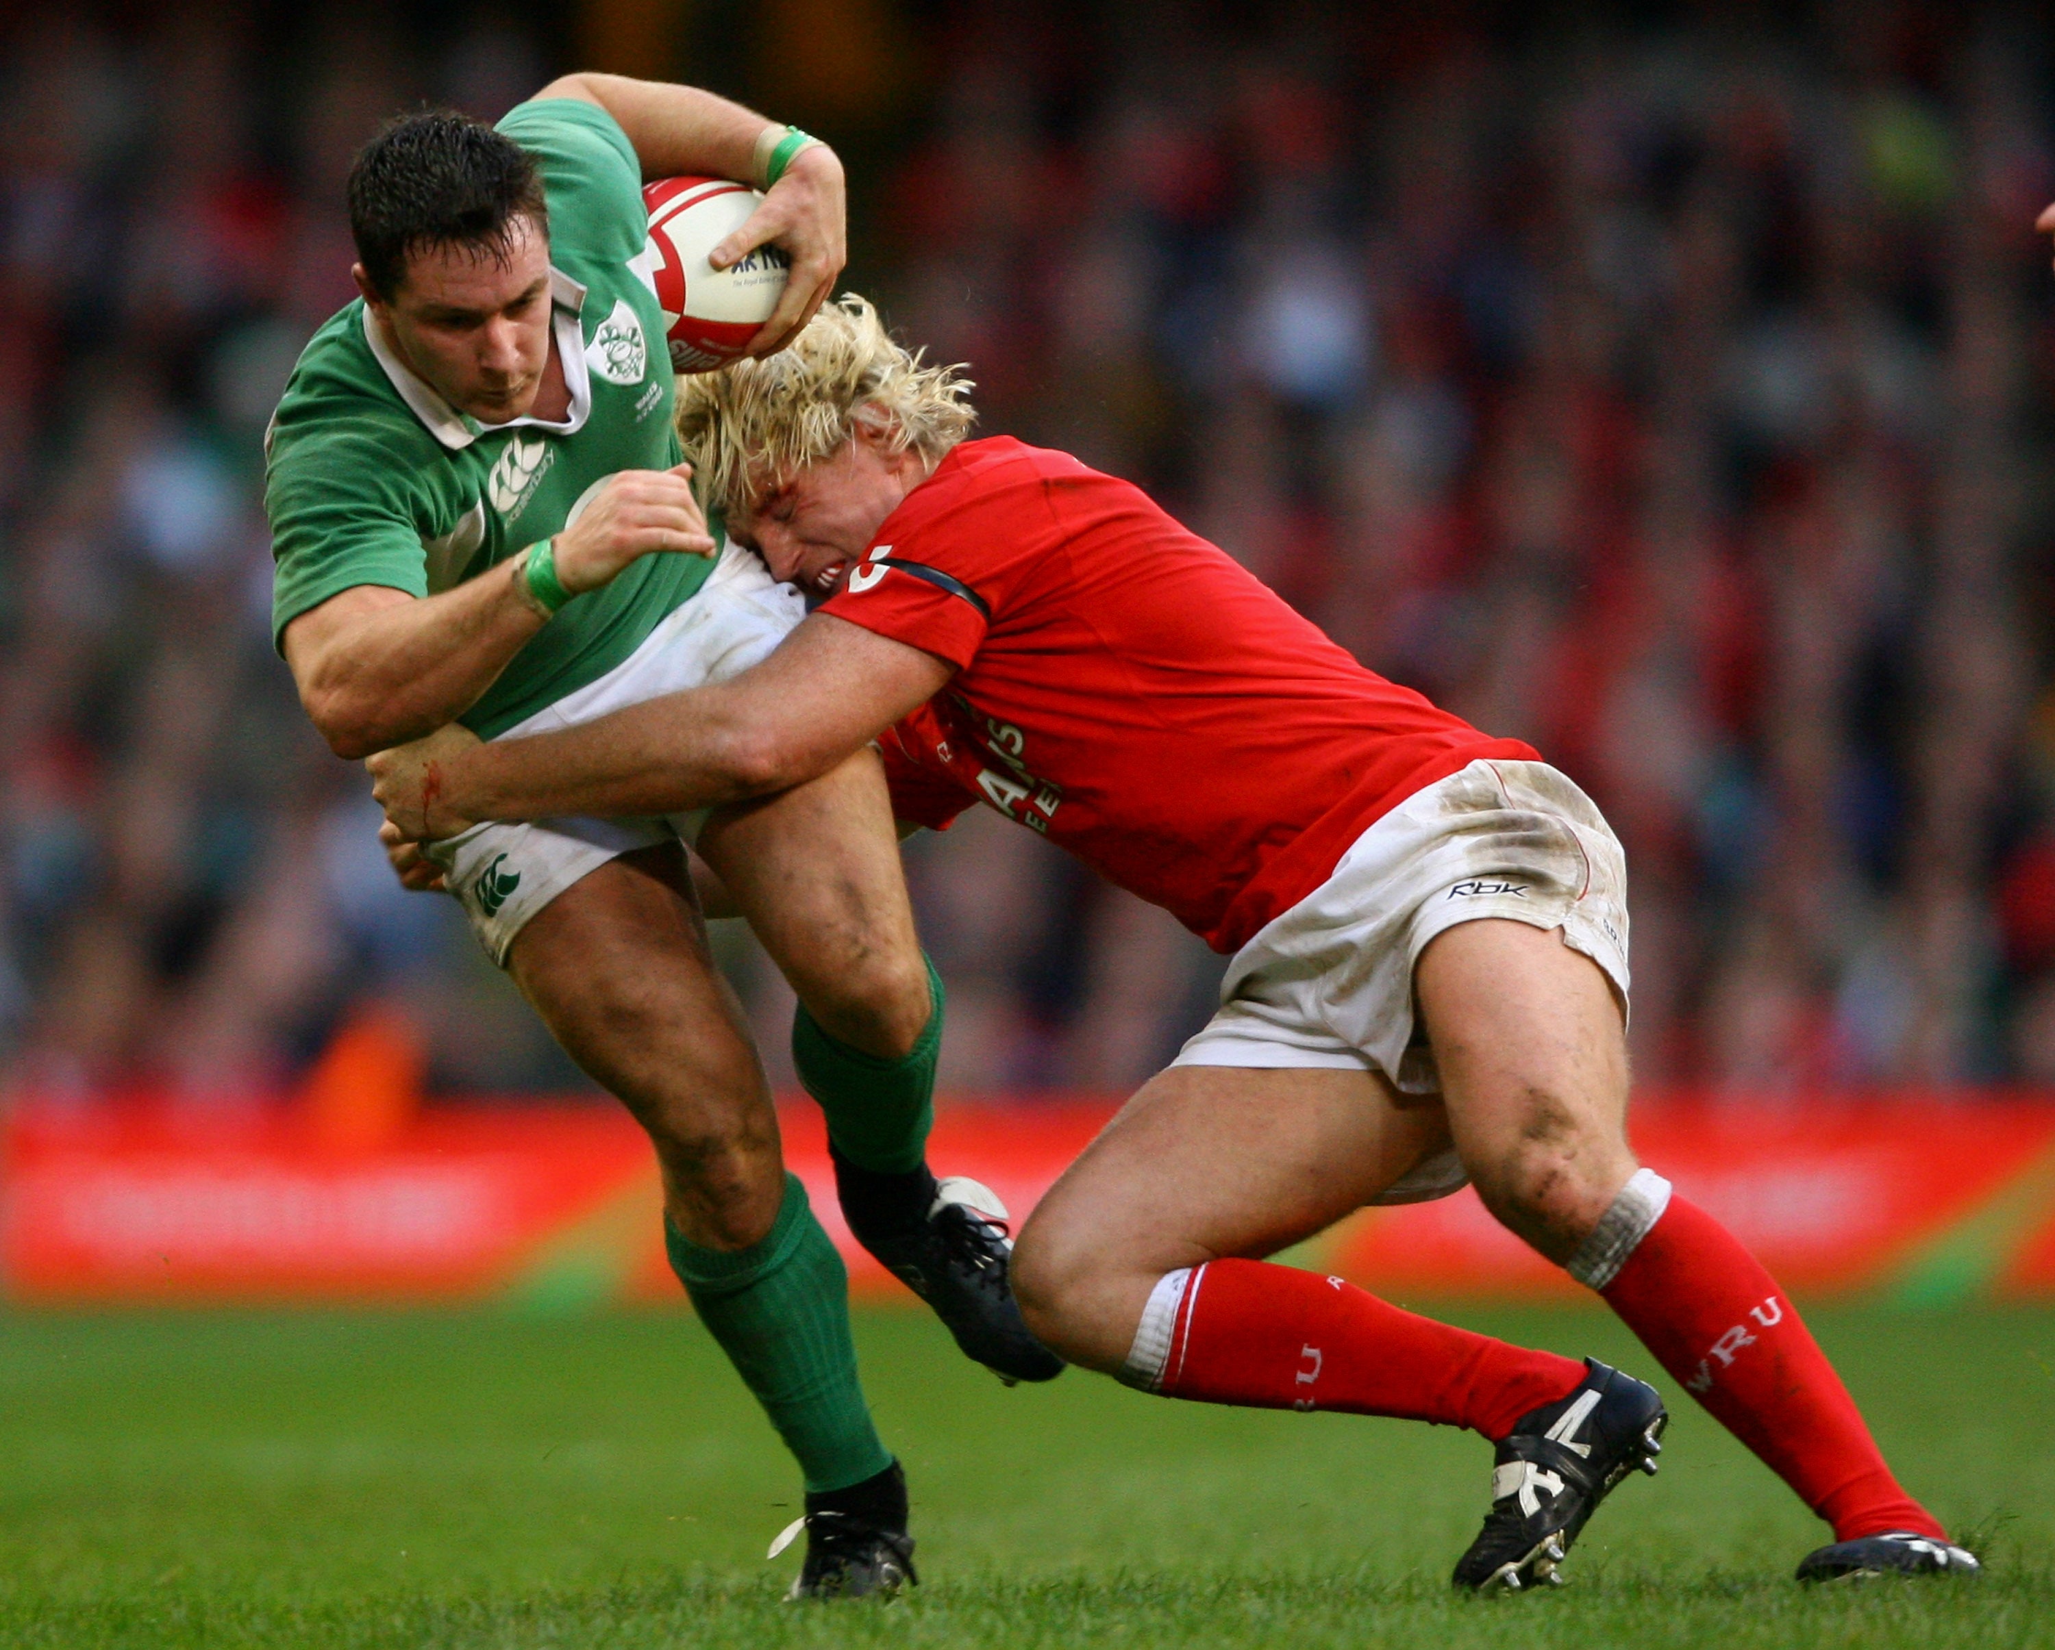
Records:
[[[508,972],[660,1145],[775,1157],[762,1064],[686,890],[674,842],[608,859],[528,918]]]

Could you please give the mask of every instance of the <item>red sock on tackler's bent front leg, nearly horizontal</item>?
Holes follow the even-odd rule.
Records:
[[[1159,1286],[1151,1311],[1171,1299]],[[1554,1352],[1506,1346],[1399,1311],[1340,1278],[1258,1260],[1196,1268],[1175,1319],[1161,1327],[1161,1362],[1134,1373],[1153,1375],[1169,1397],[1428,1420],[1494,1442],[1584,1379],[1582,1364]],[[1149,1334],[1145,1315],[1136,1348]]]

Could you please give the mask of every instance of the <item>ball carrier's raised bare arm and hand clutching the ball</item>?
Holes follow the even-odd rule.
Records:
[[[536,97],[575,97],[600,105],[621,123],[645,179],[705,175],[758,181],[756,138],[771,121],[699,86],[582,72],[551,80]],[[849,255],[843,162],[826,144],[793,156],[764,203],[713,249],[709,261],[715,269],[725,269],[764,242],[785,249],[791,275],[777,310],[750,339],[752,355],[769,355],[791,343],[843,273]]]

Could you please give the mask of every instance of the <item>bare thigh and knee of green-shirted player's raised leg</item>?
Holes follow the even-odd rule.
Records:
[[[931,1009],[927,966],[875,752],[717,810],[697,849],[828,1032],[884,1058],[912,1048]]]

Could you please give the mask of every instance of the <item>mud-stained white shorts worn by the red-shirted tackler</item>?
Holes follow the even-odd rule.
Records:
[[[1605,818],[1545,762],[1480,760],[1362,832],[1334,875],[1235,951],[1221,1009],[1171,1064],[1375,1071],[1441,1093],[1414,1015],[1414,966],[1457,923],[1560,929],[1628,1001],[1628,863]],[[1455,1151],[1373,1202],[1459,1192]]]

